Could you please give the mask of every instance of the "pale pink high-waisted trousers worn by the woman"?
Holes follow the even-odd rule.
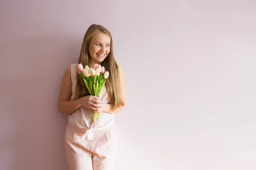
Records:
[[[67,125],[65,149],[70,170],[113,170],[116,158],[116,125],[94,131],[94,139],[85,135],[86,130]],[[79,140],[81,139],[81,140]]]

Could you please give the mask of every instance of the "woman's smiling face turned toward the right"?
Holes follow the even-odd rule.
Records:
[[[110,52],[111,38],[103,33],[93,34],[89,42],[90,67],[100,64]]]

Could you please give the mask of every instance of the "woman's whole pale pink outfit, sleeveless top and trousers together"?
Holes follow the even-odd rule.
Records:
[[[71,65],[72,96],[75,96],[77,64]],[[105,87],[99,98],[107,103]],[[114,114],[101,113],[98,125],[89,118],[90,110],[79,108],[68,115],[65,149],[70,170],[113,170],[116,158],[116,125]],[[89,133],[88,131],[92,132]]]

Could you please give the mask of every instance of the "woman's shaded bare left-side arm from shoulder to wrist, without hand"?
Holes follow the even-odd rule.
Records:
[[[81,107],[79,100],[70,101],[71,95],[71,67],[69,66],[62,79],[61,92],[58,100],[58,109],[61,113],[70,114]]]

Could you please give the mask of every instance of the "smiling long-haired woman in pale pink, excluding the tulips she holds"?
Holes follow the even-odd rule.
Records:
[[[99,96],[91,96],[78,74],[78,63],[93,68],[100,64],[109,77]],[[113,170],[116,157],[114,113],[125,108],[125,79],[113,56],[111,33],[91,25],[84,35],[78,63],[71,64],[63,77],[58,109],[68,114],[65,149],[70,170]],[[94,124],[91,111],[101,112]]]

